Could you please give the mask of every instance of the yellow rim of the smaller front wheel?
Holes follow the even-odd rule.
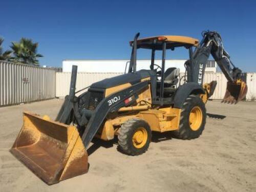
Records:
[[[133,146],[141,148],[146,144],[147,132],[144,127],[139,127],[133,135]]]

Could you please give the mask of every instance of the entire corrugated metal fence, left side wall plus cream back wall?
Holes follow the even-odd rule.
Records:
[[[56,74],[56,75],[55,75]],[[78,73],[76,90],[92,83],[122,73]],[[54,69],[40,68],[0,61],[0,106],[32,102],[69,94],[71,73],[55,73]],[[210,99],[219,100],[225,95],[226,78],[222,73],[205,73],[204,82],[217,80],[217,87]],[[246,100],[256,99],[256,73],[246,73],[248,86]],[[80,93],[79,93],[80,94]]]

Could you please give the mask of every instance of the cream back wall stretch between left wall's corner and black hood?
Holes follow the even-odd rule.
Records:
[[[92,83],[103,80],[105,78],[114,77],[123,73],[77,73],[76,91],[90,86]],[[69,94],[71,73],[56,73],[56,97],[65,97]],[[84,90],[86,91],[86,90]],[[78,95],[83,93],[80,92]]]

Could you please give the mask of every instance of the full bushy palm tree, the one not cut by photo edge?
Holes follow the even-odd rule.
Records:
[[[21,62],[29,65],[39,66],[38,57],[43,57],[37,53],[38,42],[32,39],[22,38],[19,42],[12,42],[10,46],[13,50],[14,62]]]

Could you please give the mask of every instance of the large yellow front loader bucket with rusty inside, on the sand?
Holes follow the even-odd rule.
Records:
[[[24,112],[10,152],[47,184],[88,172],[88,154],[75,126]]]

